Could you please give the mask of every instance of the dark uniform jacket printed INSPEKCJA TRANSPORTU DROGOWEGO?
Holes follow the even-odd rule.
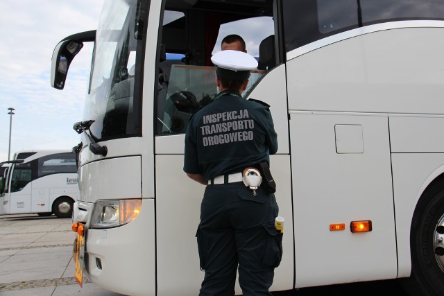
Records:
[[[184,171],[210,180],[269,162],[269,155],[277,150],[278,136],[268,105],[225,91],[191,117]]]

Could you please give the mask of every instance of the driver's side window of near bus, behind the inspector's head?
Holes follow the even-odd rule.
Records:
[[[259,60],[259,45],[274,35],[271,6],[260,13],[233,12],[229,4],[219,9],[165,10],[160,49],[166,54],[164,59],[159,57],[156,134],[184,133],[191,115],[212,103],[218,90],[211,56],[221,50],[223,37],[241,35],[248,53]],[[274,39],[264,46],[270,44],[273,49]],[[244,94],[272,67],[253,71]]]

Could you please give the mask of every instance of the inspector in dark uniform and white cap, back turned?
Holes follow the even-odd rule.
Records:
[[[257,67],[240,51],[219,51],[212,62],[218,83],[245,82]],[[185,136],[184,171],[207,180],[196,234],[205,270],[199,295],[234,295],[238,265],[244,296],[271,295],[282,258],[282,234],[274,225],[278,204],[264,186],[247,186],[246,175],[252,170],[256,177],[257,164],[269,163],[277,134],[268,105],[245,100],[239,89],[220,88],[214,102],[191,117]]]

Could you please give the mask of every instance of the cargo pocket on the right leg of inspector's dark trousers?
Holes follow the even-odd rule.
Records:
[[[267,267],[276,268],[282,259],[282,233],[275,229],[274,223],[264,225],[266,246],[262,263]]]

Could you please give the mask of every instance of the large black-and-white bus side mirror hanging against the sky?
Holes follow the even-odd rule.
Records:
[[[83,42],[76,40],[65,40],[57,44],[51,64],[51,87],[56,89],[65,87],[69,64],[82,47]]]

